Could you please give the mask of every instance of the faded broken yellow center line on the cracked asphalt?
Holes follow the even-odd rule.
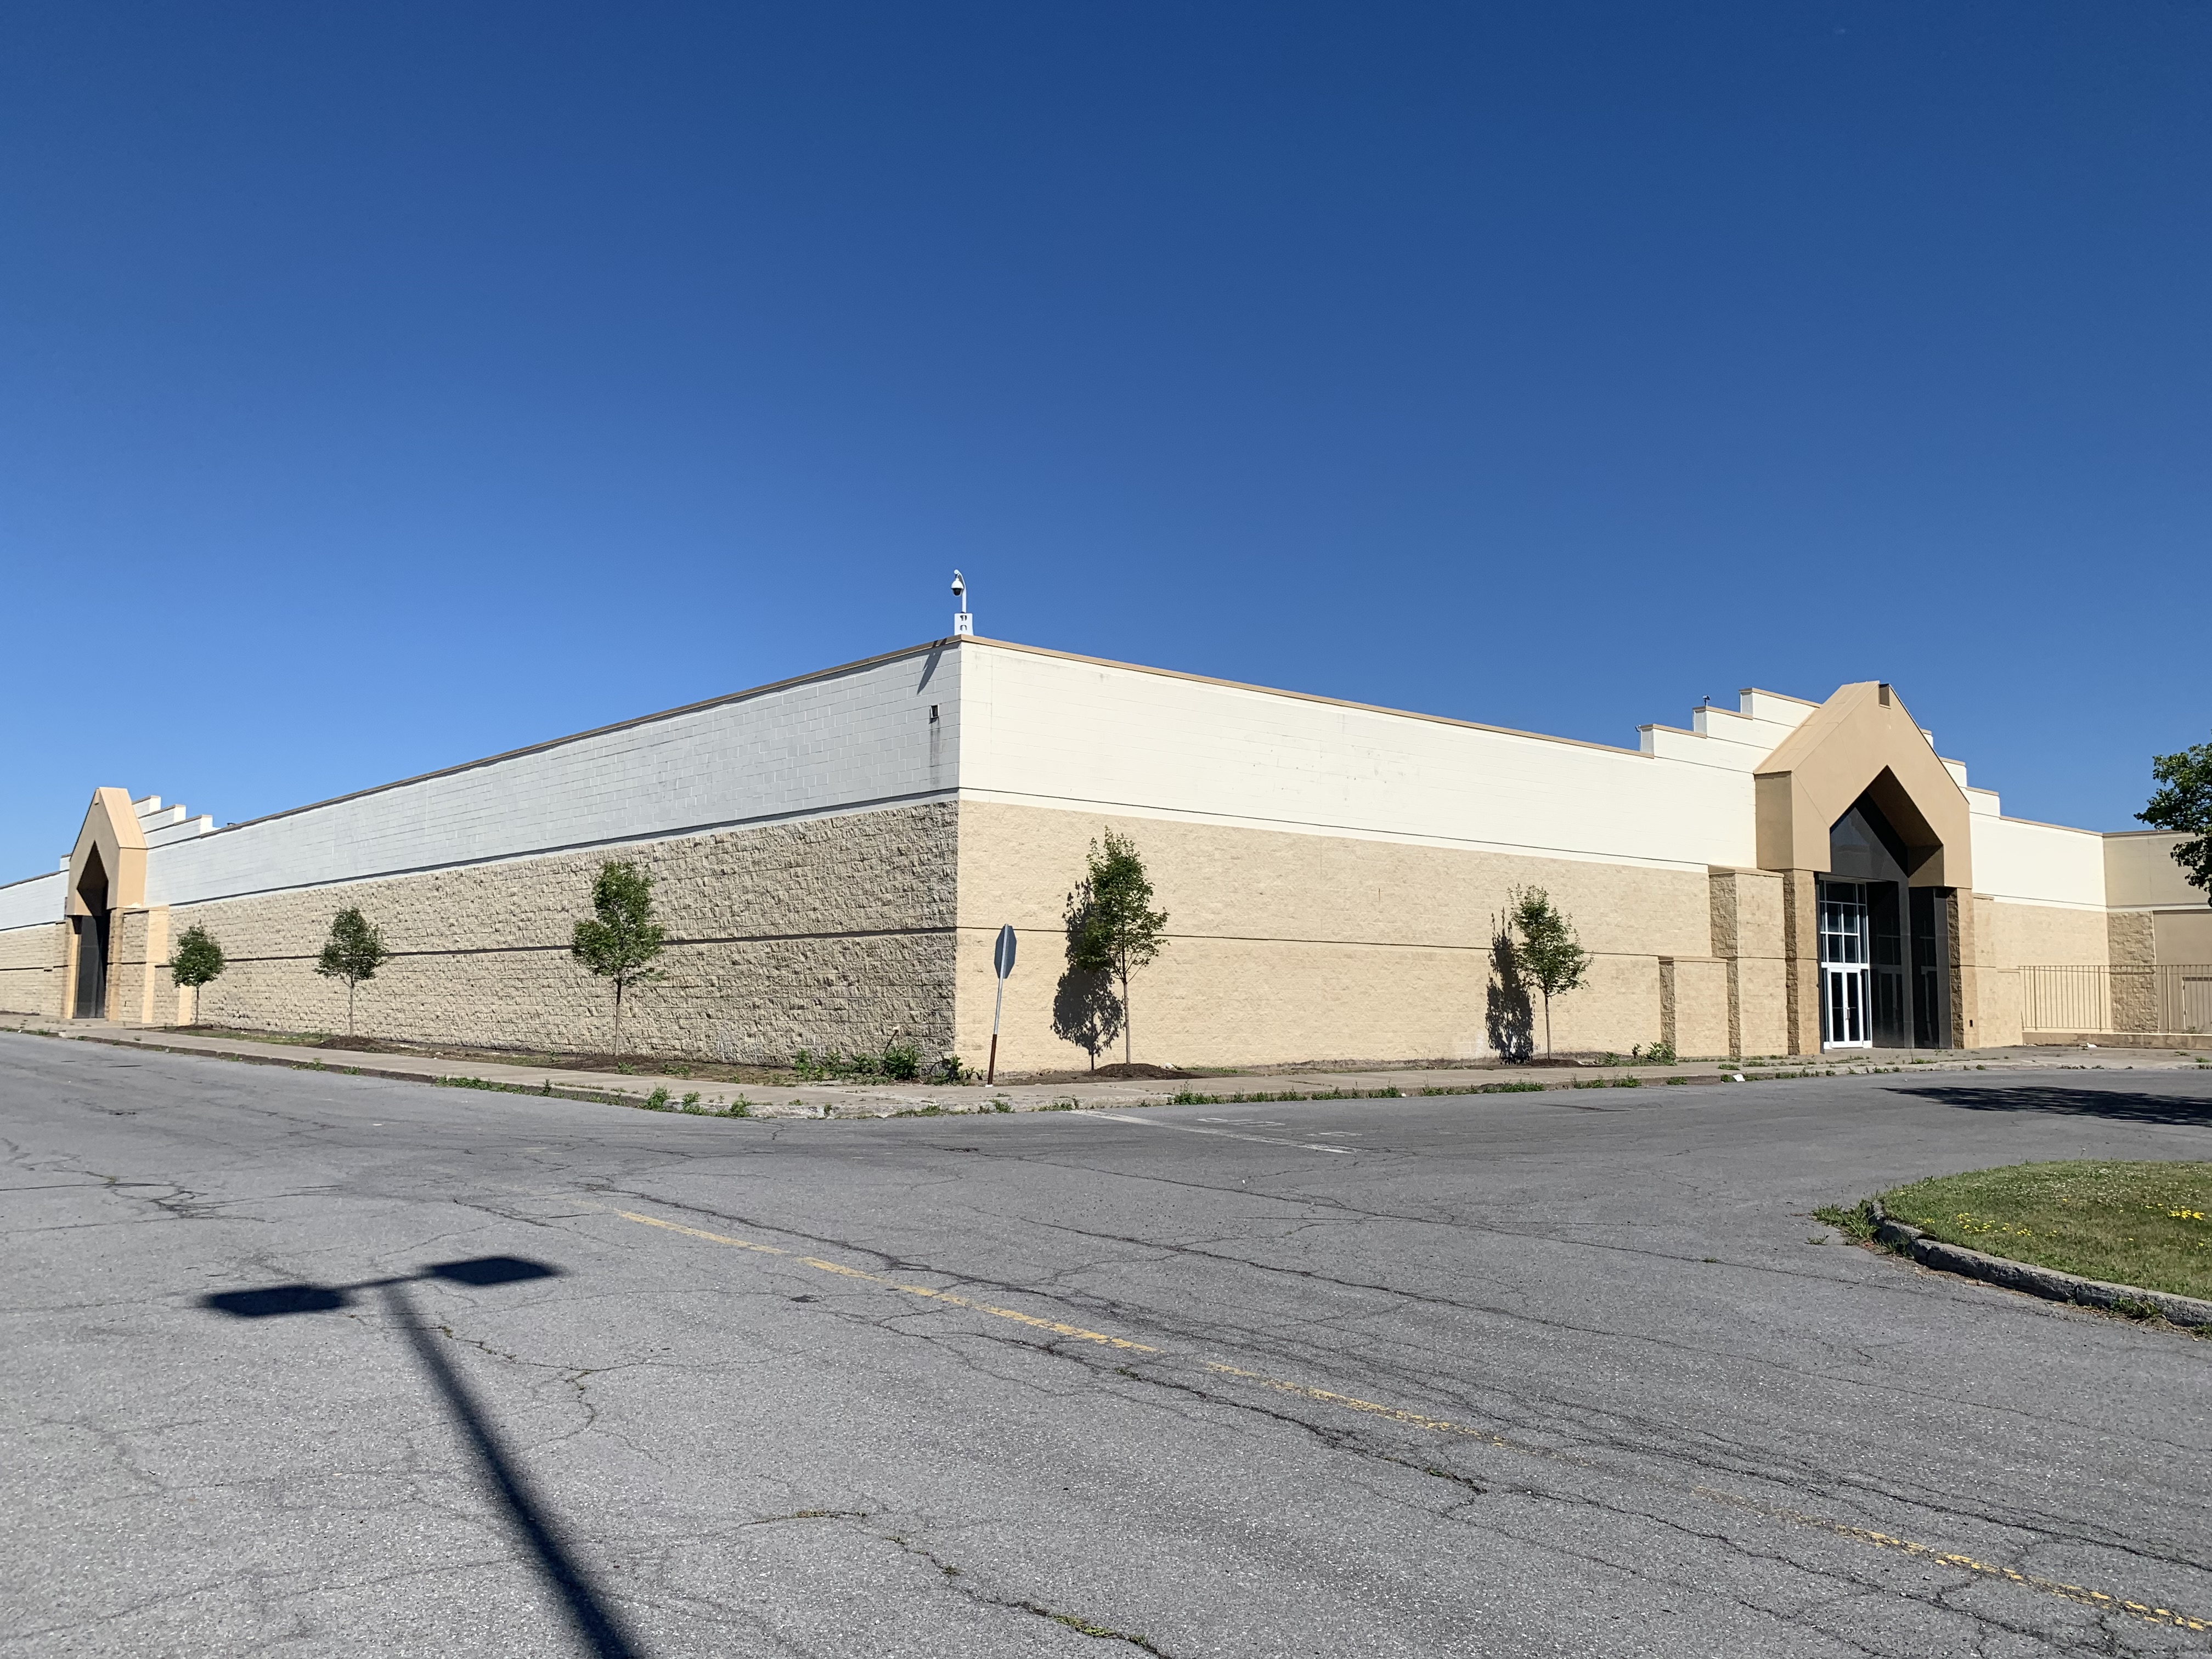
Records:
[[[591,1203],[588,1208],[597,1210],[602,1206]],[[958,1296],[949,1290],[933,1290],[929,1285],[907,1285],[896,1279],[885,1279],[883,1274],[865,1272],[863,1267],[847,1267],[845,1263],[838,1261],[823,1261],[821,1256],[801,1256],[796,1250],[781,1250],[776,1245],[754,1243],[752,1239],[732,1239],[726,1232],[708,1232],[706,1228],[686,1228],[679,1221],[664,1221],[661,1217],[639,1214],[637,1210],[613,1210],[613,1214],[622,1217],[624,1221],[637,1221],[648,1228],[661,1228],[664,1232],[679,1232],[686,1239],[701,1239],[703,1243],[719,1243],[732,1250],[750,1250],[752,1254],[759,1256],[790,1256],[801,1267],[836,1274],[841,1279],[860,1279],[869,1285],[883,1285],[885,1290],[896,1290],[907,1296],[922,1296],[927,1301],[938,1301],[949,1307],[964,1307],[975,1314],[989,1314],[991,1318],[1011,1318],[1018,1325],[1029,1325],[1040,1332],[1053,1332],[1055,1336],[1073,1336],[1079,1343],[1099,1343],[1104,1347],[1128,1349],[1133,1354],[1159,1354],[1157,1347],[1150,1347],[1148,1343],[1133,1343],[1126,1336],[1108,1336],[1106,1332],[1084,1329],[1082,1325],[1064,1325],[1057,1318],[1037,1318],[1035,1314],[1022,1314],[1013,1307],[993,1307],[991,1303],[978,1303],[969,1296]],[[1292,1394],[1301,1400],[1314,1400],[1316,1405],[1336,1407],[1340,1411],[1358,1411],[1363,1416],[1383,1418],[1385,1422],[1402,1422],[1411,1429],[1449,1433],[1462,1440],[1480,1440],[1482,1444],[1498,1447],[1502,1451],[1522,1451],[1537,1458],[1553,1458],[1579,1467],[1595,1467],[1586,1458],[1577,1458],[1571,1451],[1537,1447],[1524,1440],[1509,1440],[1502,1433],[1482,1429],[1471,1422],[1458,1422],[1453,1418],[1436,1418],[1425,1411],[1409,1411],[1407,1407],[1383,1405],[1380,1400],[1363,1400],[1356,1394],[1336,1394],[1334,1389],[1307,1387],[1305,1383],[1285,1383],[1283,1378],[1267,1376],[1263,1371],[1248,1371],[1241,1365],[1225,1365],[1221,1360],[1203,1360],[1203,1365],[1208,1371],[1217,1376],[1232,1376],[1239,1383],[1256,1383],[1263,1389],[1272,1389],[1276,1394]],[[1982,1562],[1960,1551],[1938,1548],[1936,1544],[1920,1544],[1916,1540],[1898,1537],[1893,1533],[1882,1533],[1871,1526],[1851,1526],[1849,1522],[1829,1520],[1825,1515],[1807,1515],[1796,1509],[1763,1504],[1756,1498],[1741,1498],[1736,1493],[1719,1491],[1714,1486],[1692,1486],[1690,1491],[1710,1502],[1730,1504],[1734,1509],[1743,1509],[1754,1515],[1765,1515],[1767,1520],[1778,1520],[1790,1526],[1807,1526],[1812,1531],[1829,1533],[1834,1537],[1849,1537],[1860,1544],[1871,1544],[1874,1548],[1898,1551],[1902,1555],[1931,1562],[1936,1566],[1951,1566],[1962,1573],[1978,1573],[2000,1584],[2017,1584],[2026,1590],[2037,1590],[2042,1595],[2095,1608],[2099,1613],[2119,1613],[2128,1619],[2141,1619],[2146,1624],[2163,1624],[2177,1630],[2199,1630],[2199,1632],[2212,1630],[2212,1619],[2199,1619],[2185,1613],[2174,1613],[2172,1608],[2161,1608],[2150,1601],[2130,1601],[2128,1597],[2106,1595],[2104,1590],[2090,1590],[2081,1584],[2066,1584],[2062,1579],[2046,1579],[2035,1573],[2020,1573],[2017,1568],[2011,1566],[1997,1566],[1993,1562]]]

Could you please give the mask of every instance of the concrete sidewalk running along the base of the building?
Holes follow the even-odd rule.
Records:
[[[294,1042],[252,1042],[248,1037],[201,1037],[157,1026],[128,1026],[108,1020],[35,1020],[0,1015],[4,1031],[46,1033],[75,1042],[157,1048],[164,1053],[208,1055],[217,1060],[294,1066],[301,1071],[341,1071],[356,1077],[394,1077],[458,1088],[500,1088],[509,1093],[555,1095],[562,1099],[597,1099],[615,1106],[644,1106],[664,1093],[670,1110],[732,1113],[743,1106],[750,1117],[898,1117],[902,1113],[995,1113],[995,1110],[1104,1110],[1117,1106],[1164,1106],[1177,1095],[1206,1099],[1245,1097],[1389,1097],[1398,1095],[1473,1095],[1526,1088],[1626,1088],[1765,1082],[1774,1077],[1863,1075],[1876,1071],[2199,1071],[2203,1060],[2190,1053],[2157,1053],[2146,1048],[1984,1048],[1960,1051],[1876,1051],[1845,1062],[1838,1055],[1820,1060],[1747,1062],[1739,1071],[1717,1071],[1717,1062],[1692,1060],[1677,1066],[1469,1066],[1469,1068],[1312,1068],[1301,1073],[1237,1073],[1192,1077],[1188,1082],[1062,1082],[1062,1084],[723,1084],[699,1077],[617,1071],[560,1071],[484,1060],[440,1060],[431,1055],[380,1055],[356,1048],[305,1048]],[[690,1106],[686,1106],[690,1099]]]

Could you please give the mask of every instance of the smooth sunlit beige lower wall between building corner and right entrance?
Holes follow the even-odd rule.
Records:
[[[1590,987],[1553,1006],[1559,1048],[1628,1048],[1661,1035],[1659,958],[1710,958],[1703,872],[1511,858],[1237,825],[960,803],[958,1051],[991,1046],[991,940],[1020,933],[1006,984],[1002,1071],[1079,1068],[1051,1031],[1066,967],[1062,905],[1088,843],[1130,836],[1170,942],[1130,991],[1135,1057],[1155,1064],[1422,1060],[1486,1053],[1491,918],[1513,885],[1548,887],[1597,953]],[[1692,973],[1712,995],[1719,973]],[[1725,1009],[1686,1009],[1725,1031]],[[1537,1013],[1542,1044],[1542,1013]],[[1102,1060],[1119,1060],[1102,1055]]]

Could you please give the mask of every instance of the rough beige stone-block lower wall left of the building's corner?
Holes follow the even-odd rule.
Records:
[[[168,931],[201,922],[230,956],[201,998],[210,1024],[343,1031],[345,987],[314,958],[330,918],[358,905],[394,951],[361,987],[363,1035],[602,1051],[611,991],[568,958],[568,933],[599,863],[630,858],[655,878],[670,947],[668,978],[626,998],[626,1046],[785,1060],[911,1035],[936,1053],[953,1020],[956,823],[945,801],[177,905]],[[115,953],[135,984],[133,951]],[[153,1018],[175,1020],[177,991],[155,980]]]

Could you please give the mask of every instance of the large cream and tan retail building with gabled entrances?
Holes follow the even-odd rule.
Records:
[[[2177,836],[2006,818],[1885,684],[1747,690],[1628,750],[980,637],[221,830],[102,787],[58,869],[0,887],[0,1009],[332,1031],[314,958],[358,905],[394,949],[363,1033],[602,1048],[568,936],[602,860],[633,858],[670,929],[633,1000],[646,1051],[973,1060],[1011,925],[1000,1066],[1068,1068],[1062,909],[1106,830],[1168,911],[1130,995],[1159,1064],[1491,1053],[1515,887],[1595,953],[1559,1048],[2212,1026]],[[192,922],[230,956],[197,1009],[164,971]]]

